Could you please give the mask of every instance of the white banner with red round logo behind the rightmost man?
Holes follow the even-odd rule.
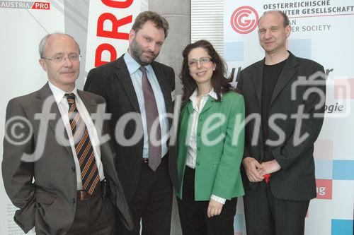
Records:
[[[352,235],[354,205],[354,2],[353,0],[224,0],[224,58],[230,70],[263,59],[257,21],[264,11],[285,11],[289,50],[329,73],[326,118],[315,145],[317,198],[309,205],[305,234]],[[240,203],[239,203],[240,204]],[[235,234],[246,234],[242,206]]]

